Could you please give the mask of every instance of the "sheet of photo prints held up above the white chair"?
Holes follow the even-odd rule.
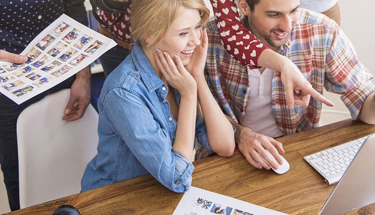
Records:
[[[0,92],[20,104],[72,76],[116,43],[62,14],[21,52],[22,64],[0,62]]]

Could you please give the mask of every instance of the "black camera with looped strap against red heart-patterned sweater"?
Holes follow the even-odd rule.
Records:
[[[130,0],[124,1],[124,2],[114,1],[114,0],[107,0],[107,2],[104,2],[104,0],[90,0],[90,3],[92,6],[92,14],[95,17],[95,19],[102,25],[111,26],[120,22],[122,17],[125,15],[125,9],[121,10],[117,8],[127,8],[131,2]],[[105,12],[109,12],[109,13],[119,13],[120,16],[114,21],[113,24],[106,24],[97,15],[96,13],[97,8]]]

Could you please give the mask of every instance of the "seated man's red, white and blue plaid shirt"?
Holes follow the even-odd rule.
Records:
[[[359,62],[353,45],[333,20],[306,9],[299,11],[299,21],[278,52],[291,59],[318,92],[322,93],[325,87],[327,91],[341,94],[351,117],[356,119],[366,96],[375,91],[371,73]],[[225,50],[213,17],[206,28],[209,43],[206,80],[224,112],[241,123],[250,90],[248,67]],[[321,102],[311,97],[307,107],[294,106],[289,110],[280,72],[275,71],[272,110],[278,127],[288,135],[317,127]]]

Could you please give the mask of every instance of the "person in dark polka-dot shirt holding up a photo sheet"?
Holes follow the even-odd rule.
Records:
[[[83,2],[84,0],[27,1],[28,5],[24,6],[25,2],[22,0],[1,1],[0,60],[24,63],[27,57],[17,53],[62,13],[87,25]],[[90,76],[90,68],[87,66],[76,75],[19,105],[0,94],[0,165],[11,210],[19,209],[16,138],[18,115],[46,94],[62,88],[71,88],[62,119],[72,121],[82,117],[90,102]],[[20,96],[21,94],[19,93]]]

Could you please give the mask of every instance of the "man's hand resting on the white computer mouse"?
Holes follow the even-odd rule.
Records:
[[[236,126],[235,140],[238,144],[239,151],[243,154],[246,160],[256,168],[270,169],[270,165],[274,169],[277,169],[278,165],[274,162],[274,159],[269,157],[269,154],[265,151],[266,148],[276,161],[281,165],[282,157],[280,154],[285,153],[282,148],[282,143],[273,139],[272,137],[256,133],[248,127],[241,125]],[[261,157],[267,162],[265,162]]]

